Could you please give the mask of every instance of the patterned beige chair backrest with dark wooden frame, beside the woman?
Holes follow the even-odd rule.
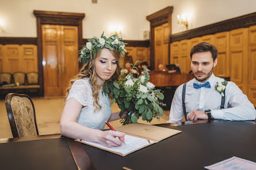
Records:
[[[5,105],[13,137],[38,135],[34,104],[28,95],[9,93]]]

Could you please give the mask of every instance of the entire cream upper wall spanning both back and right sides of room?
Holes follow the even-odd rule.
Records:
[[[149,30],[146,16],[166,6],[173,6],[172,33],[184,31],[177,24],[177,14],[189,15],[189,29],[256,12],[255,0],[0,0],[0,23],[5,30],[0,37],[36,37],[33,10],[85,13],[83,38],[110,35],[110,26],[121,26],[124,39],[143,39]]]

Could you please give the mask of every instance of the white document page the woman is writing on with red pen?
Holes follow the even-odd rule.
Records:
[[[150,141],[150,140],[146,140],[146,139],[142,139],[142,138],[134,137],[130,135],[125,135],[125,144],[122,144],[120,147],[108,148],[108,147],[104,147],[99,143],[94,143],[91,141],[84,141],[84,140],[82,140],[82,143],[85,143],[85,144],[91,145],[92,147],[100,148],[106,151],[121,153],[118,155],[125,156],[131,152],[134,152],[134,151],[137,151],[138,149],[146,147],[151,143],[154,143],[154,141]]]

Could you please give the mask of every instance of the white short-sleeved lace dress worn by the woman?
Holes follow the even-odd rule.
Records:
[[[99,104],[102,109],[95,111],[93,105],[94,98],[92,97],[92,85],[89,82],[89,78],[83,78],[76,80],[68,94],[68,98],[75,98],[80,104],[85,106],[82,108],[77,123],[87,126],[93,129],[103,129],[105,122],[111,116],[111,106],[108,96],[102,94],[102,90],[99,91]],[[67,100],[68,100],[67,98]]]

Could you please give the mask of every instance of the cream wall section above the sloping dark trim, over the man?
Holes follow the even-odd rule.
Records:
[[[171,5],[174,6],[172,14],[173,34],[185,30],[184,27],[177,24],[178,14],[188,14],[188,29],[194,29],[256,12],[255,0],[170,0]]]

